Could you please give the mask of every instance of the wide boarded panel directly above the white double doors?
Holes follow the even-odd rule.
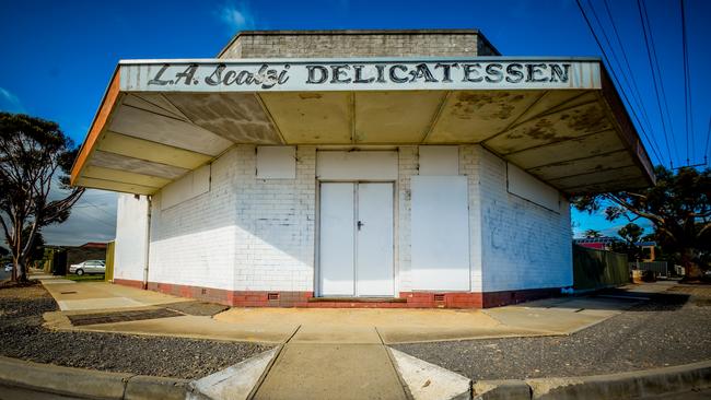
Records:
[[[396,180],[397,152],[319,151],[316,153],[318,179]]]

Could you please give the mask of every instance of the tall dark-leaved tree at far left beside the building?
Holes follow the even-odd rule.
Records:
[[[57,123],[0,113],[0,225],[12,254],[13,280],[27,280],[37,233],[66,221],[84,192],[71,188],[67,175],[77,152]],[[51,200],[57,187],[68,193]]]

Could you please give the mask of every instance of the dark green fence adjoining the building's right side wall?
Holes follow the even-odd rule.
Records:
[[[573,287],[591,290],[628,283],[627,255],[573,245]]]

